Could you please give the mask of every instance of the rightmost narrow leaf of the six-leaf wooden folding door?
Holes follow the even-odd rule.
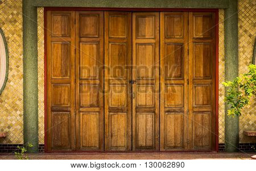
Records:
[[[215,147],[215,15],[189,12],[189,132],[188,148]]]

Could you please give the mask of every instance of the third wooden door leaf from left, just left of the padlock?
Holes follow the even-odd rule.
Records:
[[[131,150],[131,12],[105,12],[105,150]]]

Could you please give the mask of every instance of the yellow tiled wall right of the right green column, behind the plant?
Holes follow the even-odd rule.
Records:
[[[256,1],[238,1],[238,57],[239,74],[246,73],[253,61],[253,46],[256,37]],[[240,143],[256,143],[256,137],[243,135],[243,130],[256,130],[256,98],[250,101],[240,116]]]

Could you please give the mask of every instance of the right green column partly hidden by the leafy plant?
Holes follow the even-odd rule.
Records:
[[[238,11],[237,0],[229,0],[225,9],[225,81],[238,76]],[[225,95],[228,89],[225,89]],[[237,152],[239,143],[239,118],[228,116],[229,105],[225,104],[225,151]]]

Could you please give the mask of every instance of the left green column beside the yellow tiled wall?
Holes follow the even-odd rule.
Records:
[[[33,0],[23,0],[23,135],[38,152],[38,24]]]

